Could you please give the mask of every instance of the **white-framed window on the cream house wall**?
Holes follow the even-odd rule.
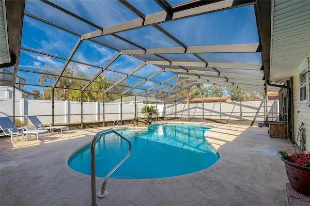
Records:
[[[306,58],[298,68],[299,72],[299,94],[300,108],[310,108],[309,103],[309,67],[308,58]]]

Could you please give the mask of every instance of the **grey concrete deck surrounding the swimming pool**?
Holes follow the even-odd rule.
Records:
[[[294,152],[287,139],[270,138],[267,127],[214,126],[207,140],[220,159],[197,173],[169,178],[109,179],[98,206],[288,206],[288,182],[277,151]],[[127,127],[123,125],[122,127]],[[131,125],[129,125],[131,126]],[[91,206],[91,177],[67,166],[67,158],[109,127],[69,130],[31,140],[0,139],[1,206]],[[104,178],[96,177],[96,193]]]

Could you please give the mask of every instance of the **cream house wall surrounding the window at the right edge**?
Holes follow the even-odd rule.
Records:
[[[308,57],[308,66],[310,65],[310,56]],[[310,70],[310,68],[309,68]],[[308,75],[310,77],[310,75]],[[310,80],[309,80],[310,82]],[[294,142],[297,142],[297,145],[300,145],[300,135],[298,137],[298,131],[301,126],[301,122],[304,123],[306,131],[306,151],[310,152],[310,108],[300,108],[300,90],[299,90],[299,72],[297,71],[293,77],[293,98],[294,98]],[[310,98],[310,96],[309,96]],[[298,138],[298,141],[297,141]]]

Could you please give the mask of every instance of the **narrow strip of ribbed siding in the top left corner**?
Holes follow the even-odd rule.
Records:
[[[10,62],[8,34],[6,29],[5,1],[0,0],[0,62]]]

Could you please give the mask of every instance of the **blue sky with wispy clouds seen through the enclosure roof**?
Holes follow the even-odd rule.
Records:
[[[126,9],[116,0],[53,0],[52,2],[102,28],[138,18],[137,15]],[[162,8],[152,0],[128,0],[128,2],[139,9],[144,15],[162,11]],[[170,0],[169,2],[171,5],[176,5],[185,1]],[[26,0],[25,13],[50,21],[71,32],[63,31],[30,16],[24,16],[21,47],[60,58],[21,49],[19,69],[40,71],[46,65],[52,65],[61,69],[65,65],[65,60],[63,59],[69,57],[72,49],[78,42],[78,35],[97,30],[95,27],[73,16],[64,14],[55,8],[51,8],[38,0]],[[159,26],[171,33],[172,36],[178,38],[186,46],[259,43],[252,5],[165,22],[159,24]],[[179,44],[152,26],[119,32],[116,35],[126,38],[134,44],[138,44],[142,48],[180,47]],[[138,49],[138,47],[111,35],[97,37],[94,40],[120,50]],[[100,70],[98,67],[105,66],[118,53],[117,50],[109,47],[104,47],[89,40],[82,41],[72,60],[94,65],[76,64],[88,75],[88,79],[92,79],[93,75]],[[199,55],[205,61],[214,63],[262,63],[260,53],[203,53]],[[147,60],[163,60],[151,54],[140,54],[136,56]],[[171,61],[201,61],[192,54],[161,54],[161,56]],[[137,58],[129,55],[121,55],[108,69],[129,73],[141,63],[143,61]],[[160,70],[162,68],[146,64],[134,74],[140,78],[132,77],[127,79],[127,82],[130,86],[134,86],[138,80],[148,78]],[[113,71],[106,70],[105,75],[115,74]],[[39,74],[18,71],[17,75],[26,79],[26,83],[28,84],[38,84],[37,79]],[[163,72],[152,79],[153,81],[147,81],[138,88],[147,89],[147,87],[154,86],[157,82],[171,78],[173,75],[175,74],[169,71]],[[119,79],[123,76],[124,74],[119,75]],[[176,81],[177,78],[167,83],[173,84]],[[46,85],[52,85],[52,83],[46,82]],[[164,86],[167,85],[165,84]],[[163,88],[163,86],[156,88],[156,90],[160,88]],[[25,86],[24,89],[31,92],[33,89],[38,88]]]

